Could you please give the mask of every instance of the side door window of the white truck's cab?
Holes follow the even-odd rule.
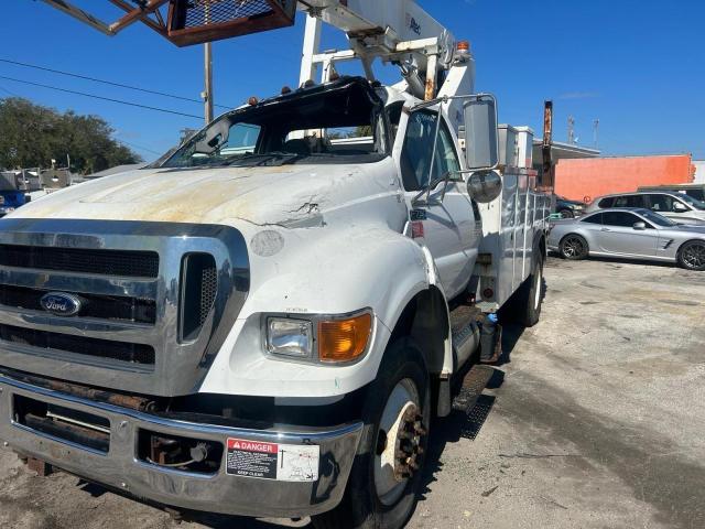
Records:
[[[460,170],[455,143],[445,122],[441,123],[434,166],[431,168],[437,122],[437,114],[424,110],[409,117],[401,152],[401,172],[406,191],[421,191],[432,180]]]

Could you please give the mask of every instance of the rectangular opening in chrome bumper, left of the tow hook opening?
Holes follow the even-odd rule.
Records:
[[[110,421],[104,417],[21,395],[13,396],[14,422],[58,441],[107,454]]]

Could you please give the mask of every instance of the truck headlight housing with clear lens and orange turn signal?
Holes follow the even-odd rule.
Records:
[[[370,310],[346,315],[268,316],[264,339],[270,355],[322,364],[351,364],[368,350]]]

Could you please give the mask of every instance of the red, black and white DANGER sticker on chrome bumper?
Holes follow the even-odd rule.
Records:
[[[315,482],[319,457],[319,446],[228,439],[227,473],[280,482]]]

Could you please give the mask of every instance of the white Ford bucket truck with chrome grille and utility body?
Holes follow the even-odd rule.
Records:
[[[0,439],[33,468],[399,528],[496,314],[536,323],[531,131],[497,126],[469,46],[415,2],[305,3],[299,88],[0,220]],[[350,50],[318,53],[322,20]]]

